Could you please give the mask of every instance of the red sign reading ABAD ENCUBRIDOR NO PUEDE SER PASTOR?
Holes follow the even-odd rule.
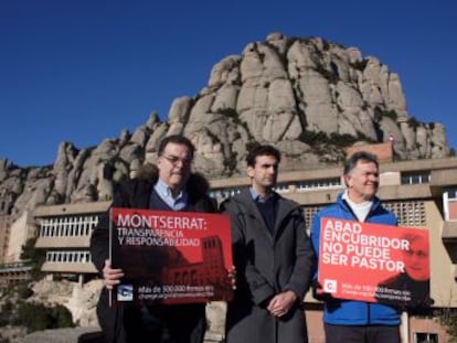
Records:
[[[412,304],[429,298],[428,231],[322,218],[319,283],[334,298]]]

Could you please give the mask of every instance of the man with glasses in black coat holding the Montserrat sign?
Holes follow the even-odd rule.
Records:
[[[192,142],[183,136],[166,137],[158,148],[157,165],[146,164],[136,179],[120,184],[111,206],[216,212],[215,203],[206,196],[208,181],[191,171],[194,150]],[[97,315],[107,342],[202,343],[205,332],[203,303],[149,307],[118,303],[109,307],[109,290],[120,282],[124,272],[111,268],[108,260],[108,221],[106,214],[91,238],[92,258],[105,281]]]

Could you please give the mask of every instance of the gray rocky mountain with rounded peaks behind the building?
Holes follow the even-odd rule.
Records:
[[[50,167],[0,160],[0,214],[108,200],[116,182],[153,162],[170,133],[191,138],[194,169],[210,178],[242,173],[254,142],[280,149],[283,169],[337,163],[358,142],[392,140],[398,159],[450,154],[443,125],[408,115],[398,75],[376,57],[320,37],[272,33],[215,64],[199,94],[173,100],[167,121],[152,112],[134,132],[96,147],[62,142]]]

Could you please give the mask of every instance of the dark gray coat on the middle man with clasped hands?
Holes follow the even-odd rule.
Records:
[[[227,343],[307,342],[301,301],[280,319],[266,310],[269,299],[278,292],[293,290],[304,299],[315,267],[300,206],[276,195],[274,235],[248,190],[221,205],[221,211],[231,216],[237,270],[237,289],[227,309]]]

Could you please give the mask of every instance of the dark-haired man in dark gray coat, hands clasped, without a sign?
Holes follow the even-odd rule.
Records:
[[[258,146],[247,158],[251,187],[226,200],[237,289],[227,308],[227,343],[304,343],[302,299],[315,255],[299,204],[274,192],[280,153]]]

